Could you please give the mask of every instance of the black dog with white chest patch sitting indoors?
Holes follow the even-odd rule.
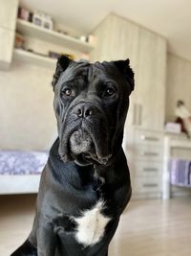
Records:
[[[58,138],[42,173],[28,240],[11,256],[106,256],[131,197],[121,148],[134,89],[129,59],[66,57],[53,76]]]

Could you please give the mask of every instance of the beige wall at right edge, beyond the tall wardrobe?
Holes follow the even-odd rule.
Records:
[[[176,103],[182,100],[191,110],[191,61],[168,54],[166,77],[166,120],[175,120]]]

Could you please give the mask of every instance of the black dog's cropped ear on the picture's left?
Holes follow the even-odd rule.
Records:
[[[57,83],[61,73],[64,72],[68,68],[68,66],[70,65],[70,63],[72,61],[73,60],[71,58],[68,58],[67,56],[64,56],[64,55],[57,59],[55,73],[53,74],[53,81],[52,81],[53,90],[54,90],[55,84]]]

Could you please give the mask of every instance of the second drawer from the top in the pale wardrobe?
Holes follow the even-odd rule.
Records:
[[[163,151],[160,147],[155,146],[137,146],[136,158],[144,161],[161,161],[163,157]]]

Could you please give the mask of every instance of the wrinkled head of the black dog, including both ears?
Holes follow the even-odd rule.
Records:
[[[129,59],[94,64],[58,59],[53,106],[63,161],[108,162],[121,146],[133,89]]]

